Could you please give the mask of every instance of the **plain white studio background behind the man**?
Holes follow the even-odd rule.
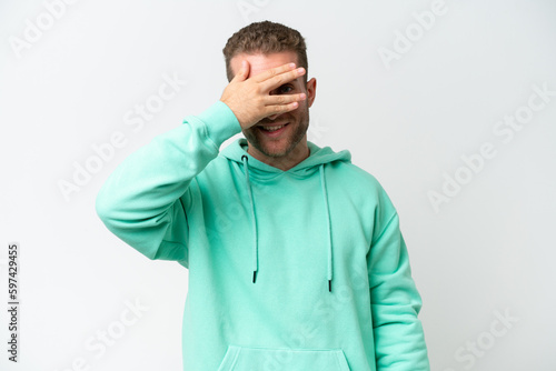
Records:
[[[0,2],[0,308],[12,241],[21,301],[18,364],[0,311],[1,370],[181,370],[187,270],[119,241],[95,198],[129,153],[220,98],[227,39],[266,19],[307,40],[309,140],[349,149],[399,211],[433,370],[556,370],[556,2],[447,0],[428,30],[420,0],[81,0],[58,18],[53,2]],[[163,76],[187,83],[132,130],[125,116]],[[553,96],[527,111],[534,86]],[[493,131],[516,112],[522,130]],[[115,132],[125,146],[64,195]],[[487,142],[496,156],[466,170]],[[456,176],[465,184],[435,210],[429,192]],[[148,310],[128,313],[135,301]],[[120,332],[101,352],[108,329]]]

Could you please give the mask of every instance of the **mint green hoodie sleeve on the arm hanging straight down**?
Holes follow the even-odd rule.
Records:
[[[411,278],[398,214],[384,190],[367,265],[377,371],[429,371],[417,318],[421,298]]]

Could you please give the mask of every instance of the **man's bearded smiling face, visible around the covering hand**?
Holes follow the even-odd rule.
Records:
[[[268,69],[294,62],[297,64],[297,54],[294,51],[284,51],[271,54],[238,54],[230,60],[234,74],[241,68],[241,61],[247,60],[250,66],[248,79]],[[270,94],[294,94],[305,92],[307,99],[299,102],[294,111],[267,117],[249,129],[242,130],[244,136],[259,154],[269,158],[281,158],[291,151],[307,150],[307,129],[309,127],[309,107],[315,100],[316,80],[305,84],[304,77],[287,82],[272,90]],[[277,129],[277,130],[275,130]],[[251,150],[251,148],[250,148]],[[292,153],[291,153],[292,154]]]

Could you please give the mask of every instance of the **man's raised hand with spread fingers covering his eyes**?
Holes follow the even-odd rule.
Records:
[[[305,74],[305,69],[296,69],[295,63],[287,63],[247,79],[249,62],[244,60],[241,69],[224,90],[220,101],[236,114],[241,129],[249,129],[261,119],[295,110],[305,93],[270,94],[276,88]]]

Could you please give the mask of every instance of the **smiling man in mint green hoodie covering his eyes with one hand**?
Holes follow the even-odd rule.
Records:
[[[396,210],[349,152],[307,141],[302,37],[252,23],[224,52],[220,101],[126,159],[97,199],[119,238],[189,269],[183,370],[429,370]]]

